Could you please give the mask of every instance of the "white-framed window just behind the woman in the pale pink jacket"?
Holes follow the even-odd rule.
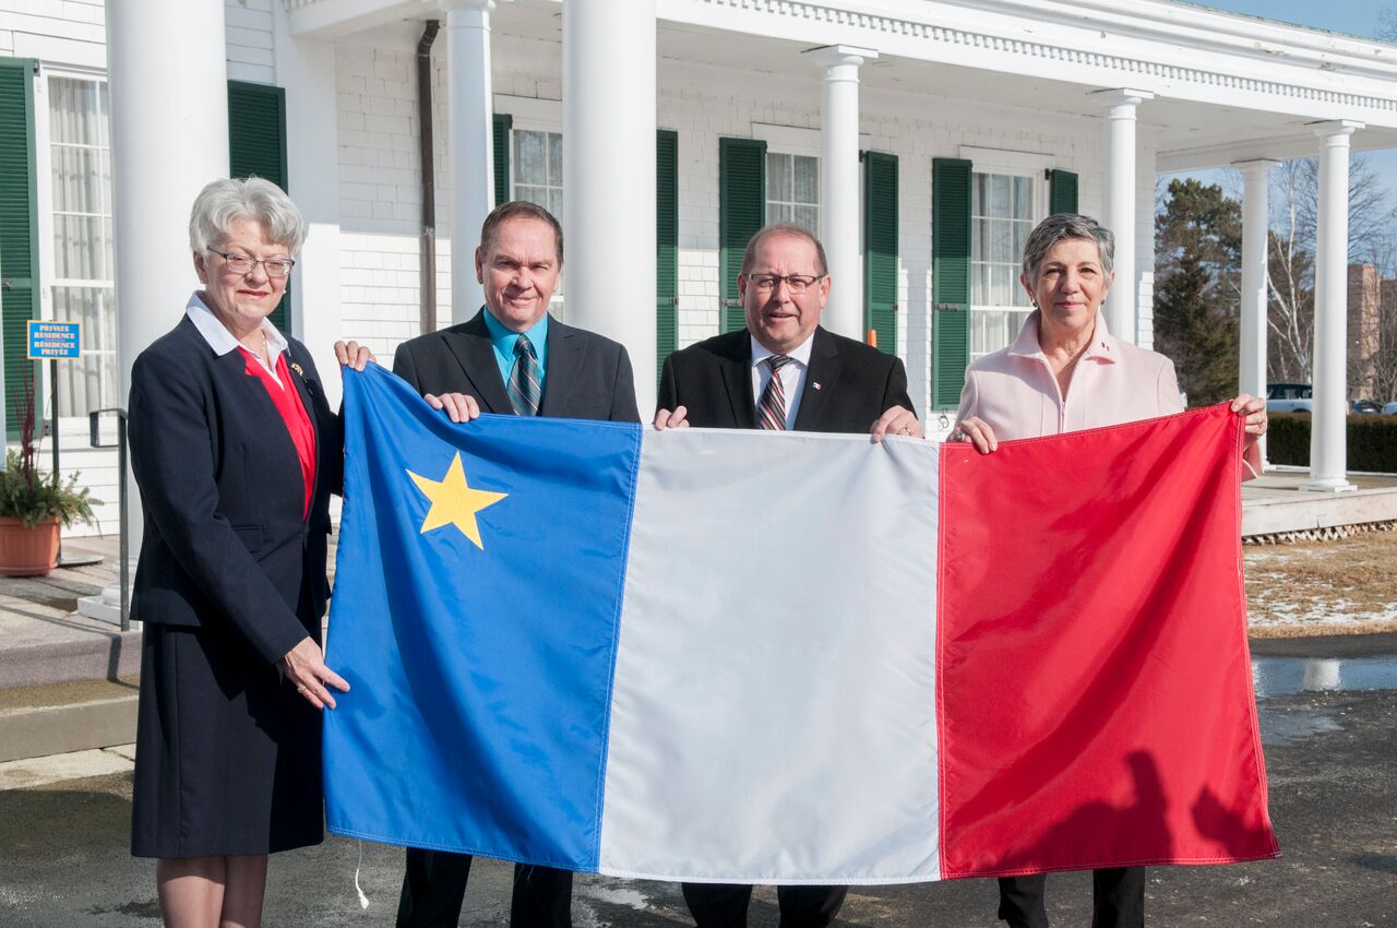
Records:
[[[1032,175],[981,173],[971,182],[971,361],[1014,341],[1032,303],[1018,282],[1042,193]]]

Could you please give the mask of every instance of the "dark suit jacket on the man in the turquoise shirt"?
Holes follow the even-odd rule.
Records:
[[[398,345],[393,373],[418,393],[465,393],[482,412],[511,415],[514,407],[495,361],[482,309],[474,319]],[[539,415],[555,419],[640,422],[630,358],[617,342],[548,320],[548,376]]]

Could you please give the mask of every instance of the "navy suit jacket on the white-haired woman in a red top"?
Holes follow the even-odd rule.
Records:
[[[310,352],[286,366],[316,430],[316,486],[305,519],[300,460],[243,355],[218,356],[187,317],[131,368],[131,470],[145,509],[131,614],[142,622],[226,623],[268,664],[320,640],[330,584],[330,493],[344,472],[341,426]]]

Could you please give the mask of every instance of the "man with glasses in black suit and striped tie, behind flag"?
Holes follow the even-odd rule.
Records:
[[[796,429],[922,436],[902,362],[820,327],[830,295],[819,239],[778,222],[747,243],[738,277],[747,317],[728,333],[678,351],[659,376],[655,428]],[[799,763],[799,759],[795,760]],[[740,928],[752,886],[685,883],[698,928]],[[847,886],[782,886],[781,928],[824,928]]]

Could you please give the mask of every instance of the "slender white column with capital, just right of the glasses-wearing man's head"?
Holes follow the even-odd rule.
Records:
[[[859,266],[859,66],[872,49],[830,45],[806,52],[824,74],[820,96],[820,240],[830,263],[824,327],[863,341],[863,274]]]

